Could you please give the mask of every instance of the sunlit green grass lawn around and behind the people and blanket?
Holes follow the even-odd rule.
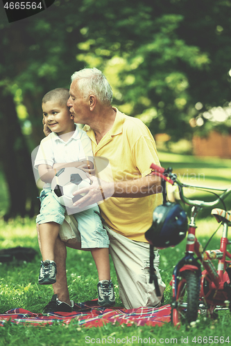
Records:
[[[171,165],[178,174],[183,174],[183,172],[188,170],[189,174],[195,173],[198,176],[198,173],[204,172],[205,181],[203,183],[205,185],[213,185],[214,183],[230,184],[231,163],[228,160],[212,160],[212,158],[202,160],[193,156],[160,153],[160,161],[164,167]],[[184,179],[189,178],[191,176],[184,177]],[[207,180],[209,180],[208,184]],[[204,197],[204,194],[201,194],[201,192],[200,197]],[[230,202],[228,201],[227,203]],[[197,235],[201,244],[205,245],[218,224],[212,217],[206,215],[206,219],[202,219],[202,216],[198,221]],[[4,313],[15,307],[41,313],[44,305],[50,300],[53,291],[51,286],[39,286],[37,284],[41,256],[37,244],[35,221],[18,218],[10,220],[6,224],[0,220],[0,228],[0,248],[31,246],[38,252],[35,260],[32,262],[0,264],[0,313]],[[209,243],[209,249],[219,246],[219,237],[221,237],[221,229],[212,238]],[[175,248],[167,248],[160,251],[160,269],[162,279],[166,283],[164,294],[165,304],[171,302],[172,293],[169,282],[171,280],[173,266],[184,255],[184,251],[185,240]],[[230,245],[229,251],[231,251]],[[74,299],[76,302],[83,302],[96,298],[97,271],[90,253],[68,249],[67,280],[71,299]],[[112,280],[116,284],[115,293],[117,304],[121,305],[113,266]],[[203,320],[200,316],[198,320],[200,322],[196,327],[190,327],[189,329],[185,326],[176,329],[171,323],[166,323],[162,327],[137,327],[136,325],[127,327],[126,325],[107,324],[103,327],[87,329],[85,327],[79,327],[76,321],[65,326],[55,323],[54,325],[47,325],[45,327],[12,325],[8,322],[4,327],[0,327],[0,346],[74,346],[105,345],[108,343],[112,345],[154,345],[154,339],[156,340],[155,344],[159,343],[159,345],[163,342],[164,345],[167,343],[170,344],[173,341],[178,344],[187,343],[187,345],[215,345],[217,340],[216,338],[214,339],[215,336],[219,338],[224,337],[224,345],[228,345],[228,342],[225,343],[225,340],[230,336],[231,318],[229,311],[220,312],[219,318],[216,321]],[[208,341],[209,336],[210,342],[206,343],[206,337]],[[203,337],[205,337],[204,340]],[[105,340],[102,342],[103,338],[107,343],[105,343]],[[123,342],[121,339],[123,339]],[[223,339],[221,339],[221,343],[222,341]]]

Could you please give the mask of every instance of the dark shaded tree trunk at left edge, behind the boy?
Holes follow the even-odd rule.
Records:
[[[19,125],[12,95],[0,89],[0,160],[8,183],[10,206],[4,216],[7,220],[20,215],[33,217],[39,209],[39,200],[33,176],[31,155]]]

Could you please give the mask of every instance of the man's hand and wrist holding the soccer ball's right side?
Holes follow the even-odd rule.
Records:
[[[101,181],[96,176],[90,176],[89,178],[92,180],[92,185],[74,192],[74,196],[83,193],[85,193],[85,196],[76,201],[73,206],[78,206],[78,208],[90,206],[103,201],[103,199],[112,197],[112,194],[114,194],[114,183]]]

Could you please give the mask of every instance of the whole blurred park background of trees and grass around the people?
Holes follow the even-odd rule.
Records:
[[[72,73],[84,67],[101,69],[112,85],[113,106],[149,127],[163,166],[173,166],[189,183],[230,185],[230,0],[57,0],[10,24],[0,10],[0,248],[31,246],[39,252],[39,190],[31,152],[44,137],[41,100],[51,89],[69,88]],[[207,242],[215,221],[207,212],[200,222],[202,242]],[[171,302],[172,266],[184,246],[162,251],[166,304]],[[42,311],[52,289],[37,285],[39,262],[37,254],[31,263],[1,264],[1,313],[14,307]],[[70,250],[67,273],[72,299],[96,298],[96,268],[88,254]],[[113,275],[116,281],[112,268]],[[229,313],[215,327],[214,321],[201,322],[187,335],[228,336]],[[0,345],[19,345],[22,338],[24,345],[32,340],[36,345],[83,345],[90,333],[176,335],[180,340],[185,333],[170,324],[129,328],[105,326],[86,334],[74,325],[41,330],[8,324],[0,329]]]

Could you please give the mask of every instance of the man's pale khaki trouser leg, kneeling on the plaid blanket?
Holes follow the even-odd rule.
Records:
[[[155,294],[154,283],[149,283],[149,244],[135,242],[105,226],[108,231],[114,268],[117,272],[119,295],[126,309],[138,307],[158,307],[164,293],[165,284],[160,276],[159,251],[155,250],[155,274],[161,296]]]

